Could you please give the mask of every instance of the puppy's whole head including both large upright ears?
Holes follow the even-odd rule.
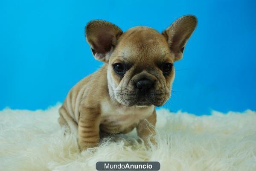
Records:
[[[108,63],[111,98],[125,106],[161,106],[171,96],[174,62],[183,56],[197,24],[193,15],[178,18],[160,34],[150,27],[126,32],[107,21],[93,20],[85,34],[94,57]]]

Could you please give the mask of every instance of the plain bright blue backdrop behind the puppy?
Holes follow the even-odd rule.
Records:
[[[198,27],[176,62],[172,111],[256,110],[256,1],[1,0],[0,109],[45,109],[97,70],[84,38],[93,19],[167,28],[184,14]]]

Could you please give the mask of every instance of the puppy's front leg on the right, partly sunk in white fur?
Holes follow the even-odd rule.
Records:
[[[156,144],[154,139],[154,136],[156,135],[156,122],[157,114],[156,110],[154,110],[154,112],[148,116],[148,118],[140,120],[136,127],[138,136],[143,139],[146,146],[148,146],[148,140],[150,140],[153,144]]]

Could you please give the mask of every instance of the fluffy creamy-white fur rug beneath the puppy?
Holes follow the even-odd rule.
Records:
[[[133,131],[79,153],[76,138],[63,136],[58,107],[0,111],[0,171],[94,171],[98,161],[159,161],[161,171],[256,171],[251,110],[195,116],[162,109],[158,147],[145,150]]]

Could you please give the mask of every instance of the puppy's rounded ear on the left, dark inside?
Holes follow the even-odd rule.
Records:
[[[93,20],[85,26],[85,37],[96,60],[108,62],[122,30],[107,21]]]

